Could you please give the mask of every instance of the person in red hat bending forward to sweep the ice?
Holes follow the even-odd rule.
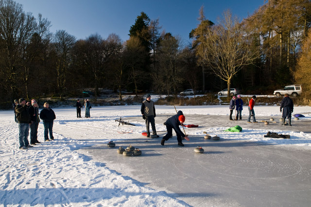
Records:
[[[176,115],[173,115],[171,118],[168,118],[168,120],[166,120],[165,125],[167,129],[167,134],[161,140],[161,145],[164,145],[165,141],[168,141],[173,136],[173,129],[176,132],[177,142],[179,146],[184,146],[184,144],[181,142],[181,137],[184,137],[187,141],[189,141],[188,136],[185,135],[179,128],[179,126],[185,122],[185,119],[186,118],[183,112],[178,111]]]

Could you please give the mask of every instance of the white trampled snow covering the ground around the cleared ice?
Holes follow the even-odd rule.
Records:
[[[229,113],[228,106],[221,105],[176,108],[184,112],[185,124],[196,124],[198,117],[221,117]],[[173,106],[155,106],[155,109],[156,128],[164,131],[166,128],[163,120],[175,114],[175,110]],[[140,139],[141,132],[145,131],[143,120],[138,119],[140,106],[94,106],[90,111],[91,118],[80,119],[76,118],[75,108],[53,110],[56,114],[53,127],[55,140],[43,141],[43,124],[40,122],[38,140],[42,143],[28,150],[18,149],[18,126],[14,122],[13,111],[0,111],[0,206],[189,206],[166,189],[156,190],[142,185],[129,175],[110,169],[108,158],[103,157],[99,161],[83,150],[86,146],[104,144],[111,140],[118,142]],[[262,120],[262,117],[267,120],[270,117],[275,117],[276,120],[280,118],[278,106],[255,106],[255,113]],[[294,107],[294,113],[305,115],[300,118],[301,121],[311,120],[311,107]],[[244,132],[237,136],[230,136],[231,132],[222,131],[227,126],[212,126],[208,123],[187,129],[190,132],[190,142],[185,141],[186,147],[191,143],[191,136],[203,137],[202,131],[218,131],[217,134],[225,139],[273,143],[280,147],[290,144],[311,150],[310,128],[306,127],[305,131],[294,127],[293,130],[290,127],[278,130],[279,126],[271,125],[274,132],[290,134],[291,139],[264,138],[267,128],[262,123],[261,127],[255,128],[256,124],[246,124],[247,115],[248,111],[244,107],[244,121],[239,121],[239,125],[243,123]],[[118,127],[115,120],[120,117],[136,126]],[[232,122],[232,125],[235,126],[236,123]],[[160,135],[164,135],[164,132]],[[168,143],[176,145],[176,140]]]

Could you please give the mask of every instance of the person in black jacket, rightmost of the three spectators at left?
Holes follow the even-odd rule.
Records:
[[[44,103],[44,108],[40,111],[40,119],[43,120],[44,141],[54,140],[53,121],[56,119],[54,111],[50,108],[49,103]],[[48,134],[50,133],[50,140]]]

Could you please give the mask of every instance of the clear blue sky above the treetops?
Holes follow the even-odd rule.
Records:
[[[199,24],[199,9],[204,5],[207,19],[216,23],[226,9],[242,18],[252,15],[264,0],[15,0],[25,12],[39,13],[52,23],[51,32],[65,30],[77,39],[98,33],[104,39],[116,33],[123,41],[140,12],[159,18],[162,30],[179,35],[188,44],[189,33]]]

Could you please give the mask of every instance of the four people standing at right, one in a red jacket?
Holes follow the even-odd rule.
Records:
[[[255,118],[255,111],[254,111],[254,106],[255,106],[255,100],[256,100],[256,96],[252,96],[252,98],[248,101],[248,119],[247,122],[248,123],[252,123],[251,122],[251,117],[253,120],[253,123],[258,123],[256,121]],[[229,109],[230,109],[230,115],[229,115],[229,119],[232,119],[232,113],[233,110],[236,109],[236,117],[234,120],[242,120],[242,110],[243,110],[243,101],[240,95],[233,96],[232,99],[230,100],[230,104],[229,104]],[[283,109],[283,112],[282,112]],[[285,119],[288,119],[288,125],[292,126],[292,113],[294,111],[294,103],[293,100],[289,97],[288,94],[284,95],[284,98],[281,101],[281,105],[280,105],[280,112],[282,112],[282,125],[285,125]]]

